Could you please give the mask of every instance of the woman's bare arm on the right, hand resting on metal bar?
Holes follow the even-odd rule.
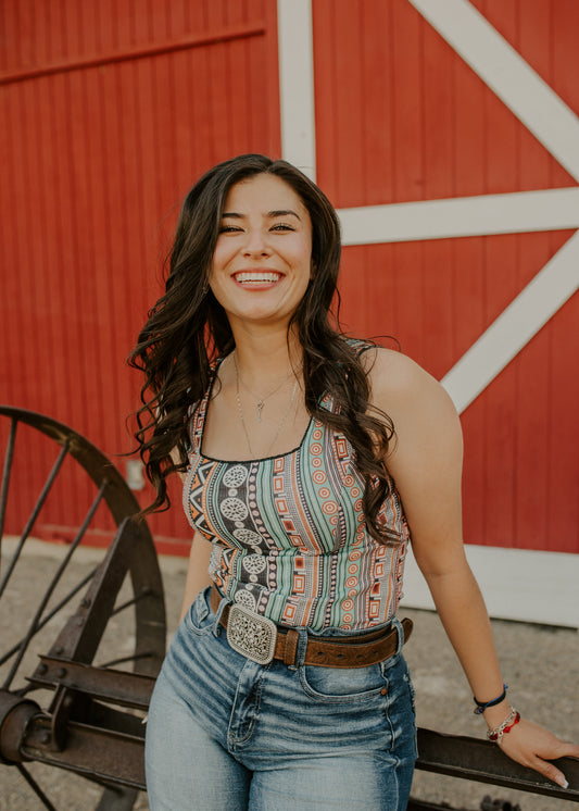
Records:
[[[501,696],[503,679],[491,624],[466,561],[462,537],[463,440],[454,406],[442,386],[408,358],[378,351],[370,373],[374,402],[394,423],[393,449],[386,460],[408,521],[416,562],[479,701]],[[489,728],[509,715],[506,699],[484,711]],[[565,786],[546,759],[579,757],[565,744],[521,719],[500,741],[514,760]]]

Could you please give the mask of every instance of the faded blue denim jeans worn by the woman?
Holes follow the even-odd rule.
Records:
[[[416,727],[401,645],[367,667],[309,666],[301,629],[297,665],[260,665],[229,647],[224,604],[215,614],[209,589],[199,595],[159,675],[146,746],[152,811],[403,811]]]

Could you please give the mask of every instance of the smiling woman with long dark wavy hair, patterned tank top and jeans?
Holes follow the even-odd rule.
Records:
[[[339,259],[336,212],[298,170],[222,163],[185,201],[131,355],[150,509],[177,471],[194,529],[149,713],[155,811],[406,807],[411,536],[494,739],[561,785],[545,759],[579,754],[508,703],[463,550],[456,412],[408,358],[339,333]]]

